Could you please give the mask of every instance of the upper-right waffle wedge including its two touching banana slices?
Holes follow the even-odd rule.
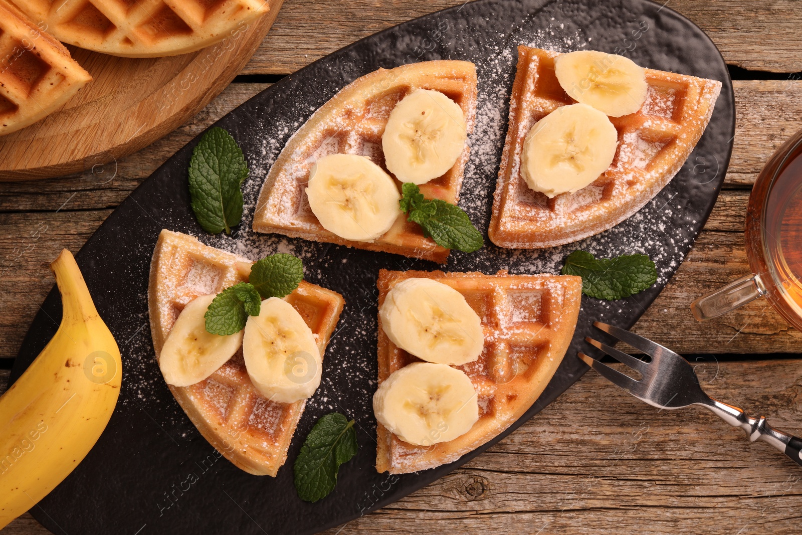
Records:
[[[720,90],[619,55],[518,47],[490,240],[541,249],[618,225],[682,168]]]

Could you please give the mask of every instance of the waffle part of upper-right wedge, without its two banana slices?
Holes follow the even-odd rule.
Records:
[[[610,117],[618,131],[613,164],[592,184],[549,199],[520,173],[525,137],[557,107],[572,104],[554,74],[557,52],[518,47],[509,125],[488,236],[501,247],[539,249],[581,240],[618,225],[668,184],[710,120],[721,83],[645,69],[641,109]]]

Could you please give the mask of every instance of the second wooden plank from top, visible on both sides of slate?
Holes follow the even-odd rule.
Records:
[[[169,156],[198,133],[269,84],[233,83],[201,113],[148,148],[109,164],[98,164],[79,175],[52,180],[0,184],[0,212],[59,209],[105,209],[119,205],[128,193],[150,176]],[[735,82],[736,133],[726,188],[749,188],[765,160],[796,132],[802,116],[802,81]],[[721,163],[700,155],[704,173],[721,172]],[[710,161],[708,161],[710,160]],[[75,197],[72,197],[75,193]],[[2,255],[0,255],[2,257]]]

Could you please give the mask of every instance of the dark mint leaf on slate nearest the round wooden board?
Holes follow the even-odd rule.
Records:
[[[192,150],[189,195],[192,211],[208,233],[231,233],[242,219],[242,181],[248,164],[229,132],[211,128]]]

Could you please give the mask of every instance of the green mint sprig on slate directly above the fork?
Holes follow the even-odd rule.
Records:
[[[580,276],[583,294],[607,301],[628,298],[657,282],[657,269],[645,254],[595,258],[586,251],[574,251],[561,273]]]

